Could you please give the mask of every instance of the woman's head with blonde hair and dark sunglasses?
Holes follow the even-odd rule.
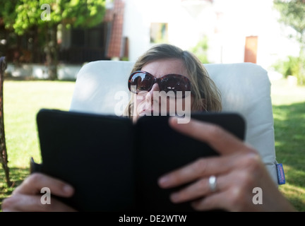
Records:
[[[135,72],[148,73],[135,74]],[[152,47],[136,61],[136,64],[131,71],[131,78],[129,78],[129,90],[133,92],[131,89],[132,85],[143,86],[143,83],[148,83],[145,81],[145,76],[164,78],[165,75],[172,74],[184,76],[184,78],[191,83],[191,90],[189,90],[191,91],[191,111],[220,112],[222,109],[220,92],[215,83],[208,76],[208,71],[205,70],[201,61],[191,52],[183,51],[178,47],[169,44],[160,44]],[[135,77],[142,77],[141,79],[143,79],[143,81],[140,81],[141,84],[138,84],[138,81],[135,82],[137,79]],[[167,81],[169,78],[166,78]],[[130,83],[131,81],[132,83]],[[184,81],[179,80],[179,82],[181,83]],[[143,89],[142,86],[141,90],[138,90],[141,91],[138,95],[143,96],[143,98],[132,95],[125,111],[125,115],[128,115],[133,121],[136,121],[136,119],[140,117],[139,114],[143,113],[143,106],[148,105],[148,109],[145,109],[145,112],[150,111],[152,107],[150,106],[150,101],[153,99],[153,92],[161,91],[160,85],[157,83],[148,85],[148,88],[150,88],[149,90]],[[166,90],[164,91],[167,93],[169,89],[166,87]],[[135,99],[136,102],[134,101]],[[157,101],[158,100],[155,100],[155,102]],[[159,104],[162,105],[161,102]],[[185,105],[185,102],[182,104]],[[167,101],[167,112],[169,112],[169,101]]]

